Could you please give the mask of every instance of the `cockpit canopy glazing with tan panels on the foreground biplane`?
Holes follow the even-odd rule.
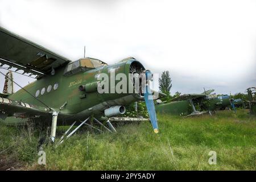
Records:
[[[85,72],[89,69],[99,68],[106,65],[108,64],[104,63],[103,61],[86,57],[84,59],[69,63],[64,70],[64,76],[74,75],[79,72]]]

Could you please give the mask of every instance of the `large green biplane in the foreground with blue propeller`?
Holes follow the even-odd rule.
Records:
[[[125,113],[124,105],[145,100],[152,127],[158,133],[152,100],[157,92],[149,87],[152,73],[133,57],[113,65],[91,57],[71,61],[1,27],[0,43],[0,67],[8,65],[8,69],[15,68],[15,72],[23,71],[22,74],[36,78],[14,93],[13,83],[18,83],[13,80],[11,72],[6,75],[1,72],[5,76],[5,86],[0,93],[0,121],[6,125],[22,125],[28,121],[51,125],[53,142],[57,126],[71,125],[64,134],[67,135],[73,125],[79,125],[67,135],[68,138],[82,125],[89,125],[86,123],[88,119],[108,131],[116,131],[110,121],[148,120],[114,117]],[[127,78],[121,86],[118,73]],[[102,75],[107,78],[102,78]],[[140,77],[137,89],[134,80],[138,75],[146,77],[146,81],[141,81]],[[129,92],[115,92],[118,84],[121,89],[129,88]],[[99,88],[103,92],[99,92]],[[111,130],[102,121],[106,121]]]

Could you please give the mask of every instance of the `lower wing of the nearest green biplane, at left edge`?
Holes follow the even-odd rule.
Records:
[[[0,119],[13,116],[17,118],[33,118],[38,117],[38,115],[49,115],[49,111],[46,107],[0,97]]]

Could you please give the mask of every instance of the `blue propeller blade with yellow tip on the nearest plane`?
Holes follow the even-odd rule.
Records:
[[[151,75],[150,75],[151,74]],[[146,72],[146,79],[148,80],[148,77],[152,76],[152,73]],[[148,115],[150,116],[151,125],[154,129],[155,133],[159,132],[158,129],[158,119],[156,118],[156,112],[155,112],[155,104],[153,100],[153,96],[151,93],[150,86],[146,84],[146,92],[144,92],[144,100],[146,102]]]

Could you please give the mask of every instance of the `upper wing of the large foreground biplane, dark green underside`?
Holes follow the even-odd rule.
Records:
[[[14,33],[0,27],[0,63],[23,70],[24,73],[47,75],[71,62],[70,60],[32,43]]]

